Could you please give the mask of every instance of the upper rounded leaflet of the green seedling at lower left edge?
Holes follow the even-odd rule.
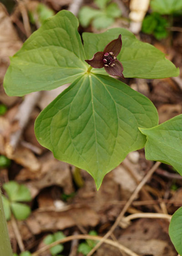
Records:
[[[23,184],[18,184],[15,181],[9,181],[3,185],[3,188],[8,194],[11,201],[15,202],[29,202],[31,201],[31,194]]]

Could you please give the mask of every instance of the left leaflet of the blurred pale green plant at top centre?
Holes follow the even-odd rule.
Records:
[[[79,12],[79,21],[82,27],[88,27],[91,20],[102,14],[102,11],[93,9],[89,6],[83,6]]]

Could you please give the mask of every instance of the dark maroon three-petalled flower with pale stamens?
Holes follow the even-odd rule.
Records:
[[[85,61],[91,65],[92,68],[101,69],[105,68],[109,75],[120,76],[124,78],[123,66],[121,62],[116,59],[116,56],[120,53],[122,46],[121,35],[115,40],[112,40],[106,45],[103,52],[97,52],[92,59],[86,59]]]

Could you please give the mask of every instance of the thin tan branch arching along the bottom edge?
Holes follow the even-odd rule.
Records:
[[[40,250],[35,251],[34,253],[32,253],[32,256],[38,256],[40,255],[40,253],[49,250],[51,247],[58,245],[60,243],[66,243],[68,241],[71,240],[76,240],[76,239],[90,239],[90,240],[96,240],[96,241],[101,241],[102,237],[101,236],[95,236],[95,235],[71,235],[71,236],[67,236],[63,239],[57,240],[56,242],[50,244],[50,245],[46,245],[44,247],[42,247]],[[104,240],[104,242],[108,245],[112,245],[118,249],[121,249],[122,251],[126,252],[129,256],[139,256],[138,254],[136,254],[135,252],[131,251],[130,249],[128,249],[127,247],[125,247],[124,245],[121,245],[118,242],[112,241],[110,239],[106,239]]]

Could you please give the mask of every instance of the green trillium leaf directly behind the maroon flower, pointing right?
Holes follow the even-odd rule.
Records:
[[[100,34],[83,33],[86,58],[91,59],[94,53],[103,51],[106,44],[119,34],[122,36],[122,48],[117,59],[123,64],[125,77],[153,79],[179,75],[179,69],[165,58],[164,53],[139,41],[124,28],[112,28]],[[103,68],[92,69],[91,72],[108,75]]]

